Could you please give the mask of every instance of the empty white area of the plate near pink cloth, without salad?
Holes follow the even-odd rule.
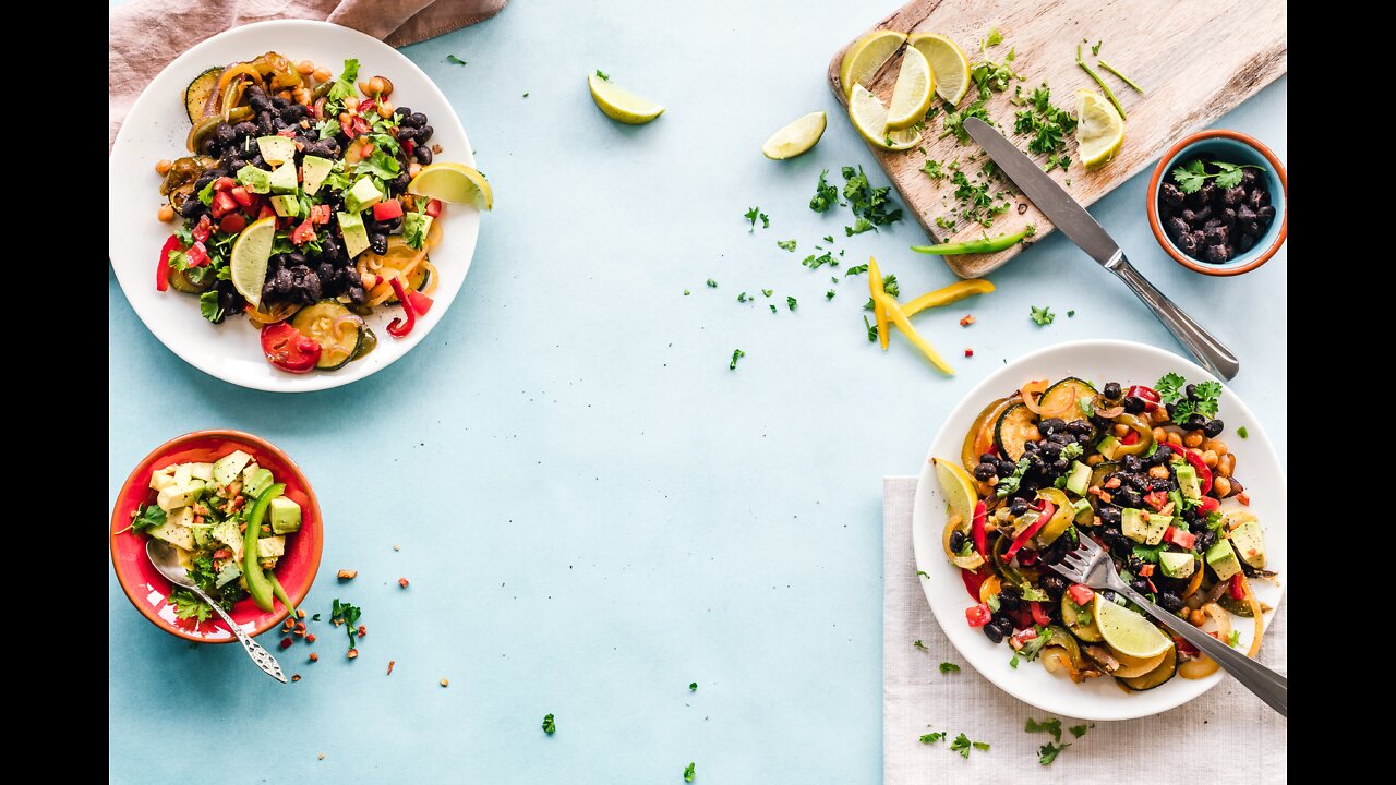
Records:
[[[475,155],[461,119],[420,68],[381,41],[328,22],[271,21],[215,35],[180,54],[131,106],[107,159],[109,254],[126,299],[161,342],[204,373],[255,390],[304,392],[377,373],[426,338],[451,307],[470,268],[480,214],[466,205],[447,205],[441,244],[431,251],[431,261],[441,272],[441,284],[431,295],[436,300],[431,313],[419,317],[416,330],[406,338],[392,338],[387,324],[401,309],[378,309],[367,318],[378,335],[378,348],[339,370],[304,374],[276,370],[262,358],[257,330],[246,318],[209,324],[198,314],[194,298],[173,289],[156,292],[155,264],[174,223],[162,223],[155,217],[165,203],[156,190],[161,177],[155,173],[155,162],[188,155],[184,148],[190,126],[184,113],[184,87],[205,68],[250,60],[269,50],[292,61],[313,60],[335,74],[346,59],[357,57],[364,78],[383,74],[392,80],[394,103],[426,113],[436,129],[431,142],[443,148],[437,161],[475,166]]]

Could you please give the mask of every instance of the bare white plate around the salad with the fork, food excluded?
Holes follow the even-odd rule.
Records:
[[[1188,381],[1215,380],[1212,374],[1187,359],[1131,341],[1076,341],[1033,352],[1001,367],[955,406],[935,441],[931,443],[930,455],[921,467],[912,514],[912,541],[917,568],[930,575],[921,578],[921,588],[931,603],[935,620],[965,661],[986,679],[1018,700],[1044,711],[1082,719],[1148,717],[1201,696],[1222,680],[1223,672],[1198,680],[1175,676],[1153,690],[1125,693],[1114,679],[1107,677],[1074,684],[1065,676],[1048,673],[1040,662],[1020,662],[1016,669],[1011,668],[1008,661],[1012,652],[1008,645],[990,643],[980,630],[972,629],[965,620],[965,609],[976,601],[972,601],[965,591],[959,570],[945,560],[941,538],[946,506],[930,458],[946,458],[958,465],[965,433],[979,412],[990,401],[1011,394],[1029,380],[1055,381],[1065,376],[1078,376],[1097,384],[1118,381],[1122,386],[1152,386],[1168,372],[1181,373]],[[1226,422],[1223,439],[1235,454],[1237,476],[1245,483],[1245,492],[1251,497],[1249,510],[1259,517],[1265,529],[1266,567],[1276,570],[1282,581],[1280,585],[1270,581],[1251,581],[1251,587],[1261,602],[1279,608],[1284,592],[1283,581],[1289,578],[1284,559],[1284,471],[1270,447],[1270,440],[1265,436],[1265,429],[1228,387],[1222,392],[1217,416]],[[1235,434],[1235,429],[1241,426],[1245,426],[1248,439]],[[1234,500],[1222,506],[1223,510],[1234,507],[1238,507]],[[1266,613],[1266,624],[1270,617],[1273,612]],[[1245,651],[1251,643],[1252,623],[1240,616],[1233,616],[1231,620],[1233,629],[1241,633],[1240,647]]]

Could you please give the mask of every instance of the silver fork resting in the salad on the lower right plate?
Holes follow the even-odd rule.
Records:
[[[1174,616],[1173,613],[1168,613],[1167,610],[1163,610],[1149,602],[1139,592],[1129,588],[1129,584],[1120,580],[1120,573],[1115,571],[1115,563],[1110,560],[1110,555],[1106,553],[1103,548],[1096,545],[1096,541],[1089,536],[1082,536],[1081,545],[1075,550],[1068,553],[1060,563],[1051,564],[1050,567],[1078,584],[1087,585],[1093,589],[1107,588],[1128,596],[1135,605],[1143,608],[1149,616],[1163,622],[1166,627],[1182,636],[1184,640],[1198,647],[1212,659],[1216,659],[1217,663],[1227,670],[1227,673],[1235,676],[1237,682],[1241,682],[1245,689],[1255,693],[1262,701],[1269,704],[1270,708],[1280,712],[1283,717],[1290,715],[1289,677],[1280,676],[1275,670],[1270,670],[1240,651],[1213,638],[1178,616]],[[1199,566],[1198,568],[1201,570],[1202,567]]]

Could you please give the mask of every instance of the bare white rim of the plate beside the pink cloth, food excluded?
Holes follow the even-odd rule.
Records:
[[[331,36],[331,41],[324,43],[324,46],[341,52],[341,60],[345,57],[357,57],[364,61],[366,68],[373,68],[371,73],[384,73],[395,77],[395,82],[402,80],[401,74],[412,74],[412,81],[420,84],[413,84],[410,94],[403,95],[403,103],[416,103],[420,106],[426,102],[427,105],[438,105],[438,108],[431,108],[429,112],[431,124],[436,129],[433,142],[445,140],[448,149],[443,155],[466,166],[475,166],[475,154],[469,137],[466,137],[461,117],[441,92],[441,88],[396,49],[370,35],[331,22],[271,20],[223,31],[176,57],[147,85],[140,98],[135,99],[135,103],[131,105],[131,110],[121,123],[116,142],[107,156],[107,256],[117,284],[121,286],[131,310],[135,311],[147,330],[176,356],[229,384],[272,392],[310,392],[341,387],[373,376],[402,359],[431,332],[445,311],[450,310],[469,272],[480,228],[479,211],[466,205],[450,205],[443,222],[443,243],[438,251],[433,254],[437,268],[443,271],[450,270],[450,274],[441,277],[443,281],[433,295],[436,306],[431,309],[431,313],[419,317],[416,330],[401,339],[385,335],[383,328],[394,314],[384,311],[374,314],[369,321],[374,325],[374,331],[380,337],[378,348],[367,358],[338,370],[290,374],[271,369],[265,360],[260,360],[261,369],[253,370],[255,366],[242,362],[243,358],[237,358],[235,362],[226,355],[216,352],[211,355],[207,351],[208,344],[201,344],[198,339],[190,341],[179,335],[181,331],[201,327],[237,331],[242,332],[239,339],[244,341],[260,356],[255,332],[246,324],[237,324],[237,318],[230,320],[232,324],[216,327],[207,323],[200,324],[202,320],[198,318],[198,310],[197,307],[191,307],[190,303],[181,305],[184,306],[183,310],[193,311],[194,320],[170,320],[166,316],[152,311],[152,299],[149,295],[155,292],[149,281],[149,272],[154,270],[154,260],[159,251],[159,244],[145,247],[148,242],[142,239],[142,232],[151,230],[151,226],[145,225],[154,225],[161,233],[168,235],[170,225],[158,223],[154,218],[155,208],[158,207],[156,200],[159,198],[155,191],[158,186],[155,175],[149,173],[148,177],[142,176],[140,179],[134,179],[131,175],[137,172],[147,173],[156,158],[177,158],[180,154],[184,154],[184,147],[183,144],[172,145],[163,149],[156,158],[144,161],[145,154],[140,149],[138,142],[134,141],[133,137],[137,134],[133,129],[140,127],[142,123],[154,122],[159,116],[158,113],[168,113],[170,108],[161,105],[166,101],[183,117],[183,105],[170,98],[173,88],[170,89],[170,95],[165,94],[165,88],[174,81],[183,87],[186,77],[191,75],[195,68],[201,70],[208,63],[216,61],[218,57],[211,56],[209,52],[226,46],[237,46],[239,56],[242,57],[254,57],[272,49],[279,49],[283,54],[295,57],[295,42],[290,39],[297,35]],[[243,43],[244,39],[248,42]],[[307,38],[307,41],[314,39]],[[338,60],[332,63],[334,66],[338,66]],[[184,123],[187,129],[187,119]],[[133,162],[135,156],[142,158]],[[151,197],[149,203],[142,198],[145,196]],[[138,222],[135,223],[137,228],[127,228],[130,222]],[[142,286],[148,288],[149,293],[144,292]],[[168,295],[168,292],[162,295]],[[205,341],[214,342],[216,338],[211,337]],[[200,346],[205,351],[195,351]],[[239,373],[242,367],[247,367],[248,370]]]

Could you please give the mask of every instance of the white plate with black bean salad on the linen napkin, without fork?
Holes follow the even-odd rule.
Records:
[[[1041,710],[1129,719],[1222,680],[1114,592],[1047,567],[1092,538],[1160,608],[1258,656],[1284,592],[1284,471],[1202,367],[1128,341],[1033,352],[980,383],[921,467],[913,545],[945,636]]]

